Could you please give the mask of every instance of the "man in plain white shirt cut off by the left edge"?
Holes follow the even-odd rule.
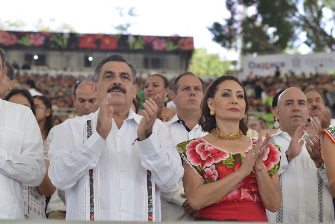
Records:
[[[6,75],[0,48],[0,83]],[[46,172],[43,141],[28,107],[0,99],[0,219],[24,219],[22,184],[39,186]]]

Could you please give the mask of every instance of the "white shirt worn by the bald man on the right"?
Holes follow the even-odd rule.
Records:
[[[300,140],[306,136],[305,133]],[[288,163],[285,152],[291,139],[287,132],[278,129],[270,140],[280,146],[283,155],[278,171],[283,201],[277,212],[267,210],[268,222],[334,223],[333,197],[327,186],[326,170],[316,168],[305,144],[300,154]]]

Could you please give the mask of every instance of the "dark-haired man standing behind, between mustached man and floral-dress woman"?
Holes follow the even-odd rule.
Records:
[[[164,123],[171,131],[174,145],[208,134],[202,132],[199,125],[203,93],[203,81],[191,72],[183,73],[174,80],[171,98],[176,105],[177,114]],[[189,206],[185,196],[182,195],[184,195],[182,181],[174,189],[162,192],[162,221],[193,220],[192,217],[197,211]]]

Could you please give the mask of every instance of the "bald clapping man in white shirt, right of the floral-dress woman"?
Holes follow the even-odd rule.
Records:
[[[281,150],[278,172],[283,201],[276,213],[267,211],[268,222],[334,223],[326,170],[319,155],[312,156],[304,144],[313,138],[304,132],[309,117],[306,96],[296,87],[288,88],[280,94],[273,112],[280,120],[280,129],[270,142]]]

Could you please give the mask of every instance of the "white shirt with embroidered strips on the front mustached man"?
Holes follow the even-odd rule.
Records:
[[[175,187],[184,174],[170,132],[156,119],[150,137],[134,141],[142,116],[130,110],[120,129],[112,119],[112,129],[105,141],[95,131],[98,113],[99,110],[64,121],[55,130],[50,146],[49,177],[55,187],[65,190],[67,220],[89,220],[87,173],[96,169],[95,220],[146,221],[148,198],[143,171],[146,175],[149,170],[156,188],[153,220],[160,221],[161,190]],[[87,120],[93,122],[93,133],[85,140]]]

